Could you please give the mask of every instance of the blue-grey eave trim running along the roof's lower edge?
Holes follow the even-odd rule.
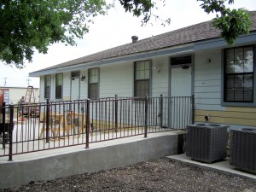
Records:
[[[256,44],[256,31],[250,32],[248,35],[241,35],[236,39],[236,46],[241,44]],[[228,47],[229,45],[224,41],[224,38],[210,38],[206,40],[197,41],[195,43],[183,44],[180,46],[170,47],[167,49],[155,49],[148,52],[143,52],[139,54],[125,55],[119,57],[113,57],[110,59],[100,60],[100,61],[90,61],[87,63],[81,63],[77,65],[72,65],[68,67],[53,68],[48,70],[41,70],[37,72],[29,73],[29,77],[40,77],[43,75],[55,74],[55,73],[65,73],[69,71],[86,69],[91,67],[100,67],[103,65],[109,65],[114,63],[119,63],[123,61],[138,61],[145,59],[152,59],[163,55],[177,55],[181,53],[189,53],[193,51],[200,51],[204,49],[222,49]]]

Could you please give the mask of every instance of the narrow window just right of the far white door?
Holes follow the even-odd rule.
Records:
[[[89,69],[88,98],[99,98],[99,68]]]

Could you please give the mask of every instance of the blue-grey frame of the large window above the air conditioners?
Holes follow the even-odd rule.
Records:
[[[247,48],[247,47],[253,47],[253,101],[252,102],[241,102],[241,101],[226,101],[226,50],[228,49],[239,49],[239,48]],[[231,47],[227,49],[222,49],[221,51],[221,62],[222,62],[222,92],[221,92],[221,105],[222,106],[234,106],[234,107],[256,107],[256,45],[255,44],[247,44],[244,46],[236,46]],[[231,73],[230,73],[231,74]],[[234,73],[236,74],[236,73]],[[243,73],[237,73],[236,75],[242,75]],[[248,73],[246,73],[248,74]]]

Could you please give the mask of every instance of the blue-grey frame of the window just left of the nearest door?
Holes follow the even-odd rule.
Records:
[[[149,78],[148,79],[137,79],[137,63],[139,62],[149,62]],[[133,96],[134,97],[144,97],[147,94],[145,94],[144,96],[138,96],[137,95],[137,82],[143,82],[145,80],[148,81],[148,95],[147,96],[151,96],[151,91],[152,91],[152,86],[151,86],[151,82],[152,82],[152,61],[151,60],[143,60],[143,61],[135,61],[134,65],[133,65]],[[144,69],[145,71],[145,69]]]

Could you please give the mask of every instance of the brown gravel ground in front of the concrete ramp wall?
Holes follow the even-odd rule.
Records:
[[[31,182],[0,191],[242,191],[256,192],[256,182],[207,171],[167,158],[102,172]]]

